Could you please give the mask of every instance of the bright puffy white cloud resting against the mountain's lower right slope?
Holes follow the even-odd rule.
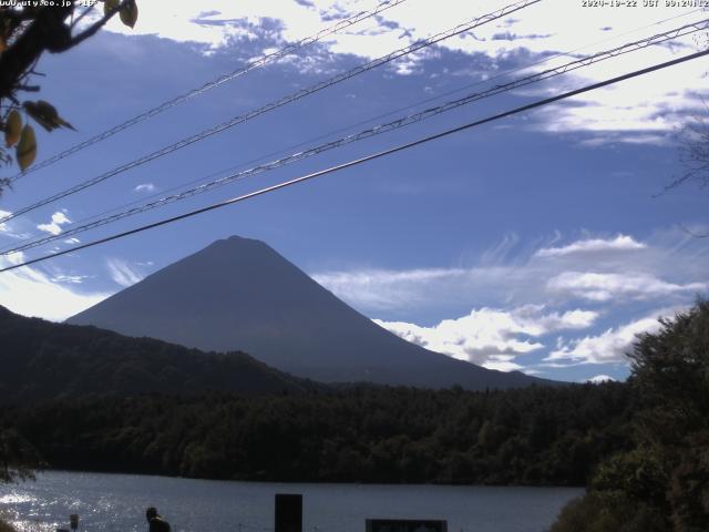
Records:
[[[521,369],[516,357],[540,350],[544,345],[534,339],[552,331],[584,329],[598,314],[589,310],[543,314],[544,307],[524,306],[505,311],[494,308],[473,309],[467,316],[444,319],[433,327],[404,321],[374,319],[399,337],[432,351],[482,365],[489,369]]]

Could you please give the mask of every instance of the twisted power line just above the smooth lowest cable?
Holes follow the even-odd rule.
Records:
[[[261,174],[264,172],[268,172],[281,166],[285,166],[287,164],[290,163],[295,163],[298,161],[302,161],[305,158],[311,157],[314,155],[318,155],[322,152],[329,151],[329,150],[333,150],[337,147],[341,147],[343,145],[347,144],[351,144],[353,142],[358,142],[358,141],[362,141],[364,139],[369,139],[372,136],[377,136],[380,135],[382,133],[388,133],[390,131],[394,131],[401,127],[404,127],[407,125],[411,125],[418,122],[422,122],[424,120],[431,119],[435,115],[452,111],[454,109],[458,109],[460,106],[463,105],[467,105],[470,103],[476,102],[479,100],[485,99],[485,98],[490,98],[490,96],[494,96],[497,94],[501,94],[503,92],[508,92],[512,91],[514,89],[518,89],[521,86],[526,86],[530,85],[532,83],[538,83],[541,81],[544,80],[548,80],[551,78],[555,78],[557,75],[562,75],[565,74],[567,72],[580,69],[580,68],[585,68],[588,66],[590,64],[595,64],[597,62],[600,61],[605,61],[608,59],[613,59],[613,58],[617,58],[619,55],[623,55],[625,53],[630,53],[630,52],[635,52],[637,50],[641,50],[645,49],[647,47],[650,45],[656,45],[656,44],[660,44],[662,42],[667,42],[669,40],[672,39],[677,39],[678,37],[684,37],[690,33],[695,33],[698,31],[705,31],[709,29],[709,19],[702,20],[702,21],[698,21],[698,22],[691,22],[689,24],[685,24],[681,25],[679,28],[675,28],[668,31],[665,31],[662,33],[657,33],[655,35],[638,40],[638,41],[634,41],[634,42],[629,42],[626,44],[623,44],[620,47],[616,47],[613,48],[610,50],[605,50],[605,51],[600,51],[597,53],[594,53],[593,55],[588,55],[586,58],[580,58],[574,61],[571,61],[566,64],[562,64],[559,66],[555,66],[553,69],[547,69],[544,70],[542,72],[532,74],[532,75],[527,75],[524,78],[520,78],[517,80],[513,80],[508,83],[504,83],[504,84],[499,84],[495,85],[491,89],[487,89],[486,91],[482,91],[482,92],[474,92],[471,94],[467,94],[461,99],[458,100],[453,100],[450,102],[445,102],[441,105],[436,105],[434,108],[429,108],[425,109],[423,111],[420,111],[418,113],[412,113],[405,116],[401,116],[397,120],[393,120],[391,122],[388,123],[383,123],[383,124],[379,124],[376,125],[373,127],[369,127],[367,130],[360,131],[358,133],[353,133],[340,139],[337,139],[335,141],[329,141],[326,142],[323,144],[320,144],[318,146],[315,147],[310,147],[308,150],[305,151],[300,151],[297,153],[292,153],[286,157],[281,157],[275,161],[269,161],[267,163],[260,164],[258,166],[254,166],[248,170],[243,170],[240,172],[236,172],[234,174],[220,177],[218,180],[214,180],[209,183],[205,183],[202,184],[199,186],[195,186],[193,188],[188,188],[182,193],[178,194],[173,194],[169,196],[164,196],[161,197],[160,200],[156,200],[154,202],[148,202],[145,203],[141,206],[137,207],[133,207],[130,209],[124,209],[122,212],[119,212],[116,214],[113,214],[111,216],[105,216],[99,219],[95,219],[93,222],[83,224],[83,225],[78,225],[75,227],[69,228],[63,231],[61,234],[59,235],[51,235],[51,236],[45,236],[42,238],[38,238],[34,239],[28,244],[22,244],[12,248],[6,248],[0,252],[0,255],[10,255],[12,253],[17,253],[17,252],[23,252],[27,249],[32,249],[34,247],[39,247],[41,245],[44,244],[49,244],[51,242],[58,241],[58,239],[62,239],[62,238],[68,238],[74,235],[78,235],[80,233],[84,233],[86,231],[90,229],[94,229],[96,227],[101,227],[107,224],[111,224],[113,222],[117,222],[120,219],[126,218],[129,216],[134,216],[136,214],[141,214],[147,211],[152,211],[154,208],[171,204],[171,203],[175,203],[177,201],[182,201],[185,200],[187,197],[192,197],[194,195],[197,194],[202,194],[205,192],[209,192],[214,188],[237,182],[237,181],[242,181],[246,177],[250,177],[257,174]]]

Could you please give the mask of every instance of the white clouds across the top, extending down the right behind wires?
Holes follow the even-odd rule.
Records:
[[[317,0],[311,4],[291,0],[213,0],[209,11],[204,12],[204,6],[198,2],[144,2],[134,29],[123,27],[119,20],[111,21],[107,29],[130,35],[152,34],[178,42],[196,42],[206,51],[215,51],[234,41],[251,41],[255,45],[260,44],[263,52],[267,53],[286,42],[297,42],[333,24],[335,17],[349,17],[372,9],[377,3],[377,0]],[[507,4],[506,0],[485,4],[439,0],[435,7],[430,2],[405,2],[387,10],[376,20],[366,20],[329,35],[325,44],[332,54],[373,59]],[[584,8],[578,1],[545,0],[473,32],[441,42],[436,50],[462,52],[477,59],[484,57],[491,63],[493,73],[499,71],[502,61],[516,55],[528,58],[526,62],[532,64],[542,57],[563,52],[552,57],[547,63],[527,68],[526,73],[530,73],[701,19],[700,13],[678,13],[676,8],[662,4],[653,9],[621,9],[614,11],[610,19],[607,9]],[[568,20],[575,23],[569,25],[565,22]],[[693,51],[692,45],[692,35],[686,35],[674,41],[671,47],[654,45],[615,57],[559,76],[540,88],[533,85],[535,89],[524,94],[548,94],[561,89],[578,88],[675,59]],[[318,55],[312,48],[307,52],[298,57],[290,55],[284,62],[297,63],[304,71],[327,68],[322,59],[312,62],[312,57]],[[392,64],[390,70],[402,75],[422,72],[422,60],[435,53],[425,52],[402,60]],[[583,142],[596,145],[610,140],[665,143],[667,137],[664,133],[681,124],[688,109],[701,106],[692,91],[703,91],[705,70],[703,62],[692,61],[577,95],[568,104],[537,111],[534,127],[549,133],[590,132],[595,136]],[[464,75],[472,75],[480,81],[480,72],[474,68],[467,71]],[[682,80],[679,85],[678,79]],[[618,134],[608,135],[609,132]]]

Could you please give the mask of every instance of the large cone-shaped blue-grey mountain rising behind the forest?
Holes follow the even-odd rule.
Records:
[[[260,241],[233,236],[68,320],[203,350],[243,350],[323,382],[471,390],[556,383],[429,351],[362,316]]]

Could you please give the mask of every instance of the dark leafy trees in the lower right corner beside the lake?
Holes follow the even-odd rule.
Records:
[[[628,357],[635,447],[603,461],[552,532],[709,530],[709,301],[661,320]]]

